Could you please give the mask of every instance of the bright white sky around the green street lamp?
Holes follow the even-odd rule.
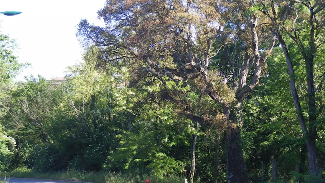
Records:
[[[0,15],[0,32],[16,40],[18,61],[32,64],[16,80],[64,77],[67,66],[82,61],[84,50],[75,36],[80,20],[104,26],[97,11],[105,0],[0,0],[0,5],[0,11],[22,12]]]

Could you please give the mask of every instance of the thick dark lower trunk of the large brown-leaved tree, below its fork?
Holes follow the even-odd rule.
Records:
[[[227,183],[250,182],[240,142],[240,128],[238,125],[239,121],[237,120],[237,116],[240,115],[240,109],[241,101],[238,102],[237,111],[231,113],[232,120],[227,122],[229,128],[227,148]]]

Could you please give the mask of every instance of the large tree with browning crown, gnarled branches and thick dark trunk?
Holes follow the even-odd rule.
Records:
[[[77,34],[85,46],[100,48],[100,68],[123,63],[135,79],[147,74],[175,82],[201,79],[202,91],[222,105],[228,124],[227,181],[248,182],[241,106],[275,43],[268,19],[253,6],[249,1],[113,0],[98,12],[106,27],[82,20]]]

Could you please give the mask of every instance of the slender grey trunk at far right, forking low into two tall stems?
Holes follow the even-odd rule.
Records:
[[[288,70],[289,70],[289,74],[290,74],[290,89],[291,89],[291,94],[293,97],[293,102],[296,108],[296,112],[298,115],[298,121],[300,123],[301,129],[303,131],[303,135],[306,138],[306,145],[307,145],[307,152],[308,152],[308,164],[309,164],[309,173],[313,176],[320,176],[321,175],[321,169],[320,169],[320,165],[318,163],[318,156],[317,156],[317,148],[316,148],[316,124],[315,124],[315,120],[316,120],[316,102],[315,102],[315,90],[314,90],[314,74],[313,74],[313,61],[314,61],[314,56],[315,56],[315,52],[316,52],[316,48],[315,48],[315,40],[316,38],[314,38],[314,31],[316,30],[315,25],[314,25],[314,15],[319,12],[322,8],[324,7],[320,7],[320,9],[318,9],[319,11],[314,12],[313,11],[313,7],[307,7],[309,9],[309,13],[310,13],[310,25],[311,25],[311,29],[310,29],[310,40],[309,41],[309,48],[306,50],[307,47],[303,46],[301,44],[301,41],[299,40],[299,38],[296,35],[296,30],[293,27],[293,33],[294,36],[291,35],[291,33],[287,32],[288,35],[296,42],[297,46],[300,48],[300,52],[302,53],[302,56],[305,59],[305,67],[306,67],[306,79],[307,79],[307,93],[308,93],[308,116],[309,116],[309,126],[308,126],[308,130],[306,128],[306,122],[303,116],[303,112],[300,106],[300,101],[299,101],[299,97],[297,95],[297,91],[296,91],[296,86],[295,86],[295,76],[294,76],[294,70],[293,70],[293,65],[292,65],[292,61],[290,58],[290,54],[289,51],[287,49],[287,45],[286,42],[283,40],[283,35],[282,32],[280,30],[280,23],[279,23],[279,17],[276,11],[276,5],[274,4],[273,1],[271,2],[271,10],[272,10],[272,14],[273,16],[271,16],[270,13],[268,13],[268,10],[266,8],[266,6],[262,4],[262,6],[264,7],[264,10],[267,12],[266,14],[270,17],[270,20],[272,21],[273,25],[274,25],[274,32],[279,40],[279,43],[281,44],[281,48],[282,51],[284,53],[287,65],[288,65]],[[293,22],[293,26],[294,26]],[[315,34],[315,36],[317,37],[317,34]]]

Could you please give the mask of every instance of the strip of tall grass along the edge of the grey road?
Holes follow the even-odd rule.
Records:
[[[144,183],[150,179],[150,183],[183,183],[182,178],[177,176],[158,178],[150,175],[131,175],[111,172],[81,172],[77,170],[67,170],[62,172],[36,172],[28,168],[17,168],[11,172],[2,172],[0,177],[20,177],[20,178],[45,178],[59,180],[73,180],[96,183]]]

